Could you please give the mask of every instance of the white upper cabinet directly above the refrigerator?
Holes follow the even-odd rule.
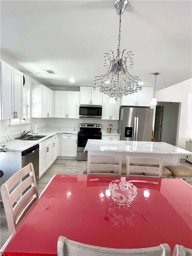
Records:
[[[153,97],[153,87],[142,87],[141,91],[135,92],[131,95],[123,96],[121,98],[121,106],[144,106],[151,105]]]

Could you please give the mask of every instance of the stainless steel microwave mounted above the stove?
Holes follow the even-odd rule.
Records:
[[[102,106],[101,105],[80,105],[79,117],[101,118]]]

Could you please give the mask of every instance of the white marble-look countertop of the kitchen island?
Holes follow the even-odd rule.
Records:
[[[181,154],[192,155],[192,152],[175,147],[166,142],[151,141],[123,141],[123,140],[88,140],[86,151],[114,151],[114,152],[137,152],[158,154]]]

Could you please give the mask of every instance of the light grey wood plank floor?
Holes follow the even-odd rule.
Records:
[[[53,177],[54,174],[70,174],[70,175],[82,175],[83,174],[83,164],[84,161],[76,160],[63,160],[56,159],[52,166],[46,171],[46,173],[38,180],[37,188],[39,194],[45,188],[47,183]],[[180,160],[180,165],[187,165],[192,167],[192,164],[185,161],[184,159]],[[191,184],[192,185],[192,184]],[[3,208],[3,203],[0,203],[0,248],[6,242],[9,237],[7,221],[5,217],[5,212]]]

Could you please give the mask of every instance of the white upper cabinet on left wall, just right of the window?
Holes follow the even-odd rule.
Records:
[[[31,85],[31,117],[52,117],[52,90],[42,84]]]

